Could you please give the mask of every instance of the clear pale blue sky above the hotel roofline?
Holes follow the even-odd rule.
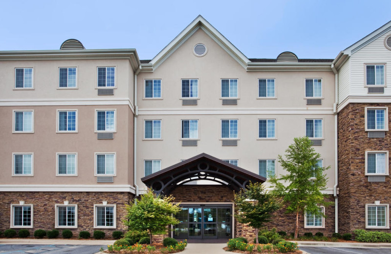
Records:
[[[0,50],[135,48],[152,59],[198,15],[248,58],[337,54],[391,20],[391,0],[2,0]]]

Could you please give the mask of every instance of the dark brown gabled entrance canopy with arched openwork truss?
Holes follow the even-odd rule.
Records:
[[[196,180],[214,181],[239,191],[245,188],[249,181],[263,183],[266,178],[206,153],[141,178],[155,193],[165,195],[169,195],[180,185]]]

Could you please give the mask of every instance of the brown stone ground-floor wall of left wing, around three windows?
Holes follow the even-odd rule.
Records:
[[[126,231],[127,227],[122,220],[127,211],[125,204],[133,199],[129,192],[0,192],[0,231],[10,228],[11,204],[33,204],[33,228],[28,228],[32,234],[37,229],[52,230],[55,227],[55,204],[64,204],[69,201],[70,205],[77,204],[77,229],[69,229],[73,237],[78,237],[80,231],[100,230],[111,237],[116,230]],[[116,229],[94,229],[94,204],[102,204],[107,201],[108,205],[116,204]],[[17,231],[19,229],[16,229]],[[63,229],[58,229],[61,232]]]

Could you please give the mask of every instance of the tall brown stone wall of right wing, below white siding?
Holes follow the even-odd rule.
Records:
[[[365,151],[391,150],[390,131],[385,132],[384,138],[368,138],[365,131],[366,106],[389,107],[388,119],[391,119],[391,104],[349,104],[338,113],[340,233],[365,229],[366,204],[373,204],[376,200],[381,204],[391,203],[391,177],[386,176],[386,182],[368,182],[368,176],[365,176]]]

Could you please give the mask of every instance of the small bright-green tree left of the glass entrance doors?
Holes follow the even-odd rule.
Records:
[[[127,206],[128,215],[124,223],[131,230],[148,231],[152,244],[153,234],[162,234],[170,224],[178,224],[173,217],[180,211],[179,204],[174,204],[173,196],[156,196],[152,190],[141,196],[137,203]]]

